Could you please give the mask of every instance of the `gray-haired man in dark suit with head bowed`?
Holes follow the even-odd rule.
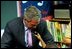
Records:
[[[57,47],[46,22],[41,20],[41,12],[35,6],[30,6],[24,12],[24,17],[15,18],[7,23],[1,38],[1,48],[39,48],[39,39],[35,36],[37,34],[40,34],[46,44],[43,48]],[[31,38],[30,44],[27,35]]]

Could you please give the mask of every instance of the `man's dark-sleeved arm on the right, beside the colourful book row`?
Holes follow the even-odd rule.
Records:
[[[42,40],[45,42],[46,47],[45,48],[57,48],[56,43],[54,42],[53,36],[50,34],[50,32],[47,29],[47,24],[45,21],[41,21],[36,31],[40,34]]]

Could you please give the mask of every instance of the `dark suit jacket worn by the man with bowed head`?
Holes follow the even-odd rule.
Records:
[[[47,44],[46,47],[56,47],[53,37],[47,29],[46,22],[41,21],[37,25],[36,29],[32,30],[32,48],[39,47],[39,41],[34,36],[34,31],[37,31],[41,35],[42,39]],[[19,17],[9,21],[5,27],[5,31],[1,39],[1,48],[26,48],[24,35],[25,29],[23,24],[23,18]]]

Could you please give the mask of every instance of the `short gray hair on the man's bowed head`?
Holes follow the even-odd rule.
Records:
[[[41,11],[35,6],[29,6],[24,12],[24,18],[29,20],[34,19],[38,21],[41,18]]]

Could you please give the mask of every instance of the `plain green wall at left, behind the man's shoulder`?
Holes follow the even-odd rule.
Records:
[[[4,32],[6,23],[15,17],[17,17],[16,1],[1,1],[1,32]]]

